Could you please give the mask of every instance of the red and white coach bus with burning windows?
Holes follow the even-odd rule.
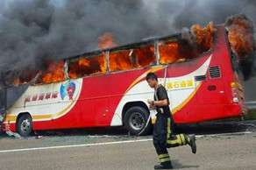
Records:
[[[151,131],[147,104],[153,72],[167,89],[176,124],[243,117],[244,89],[224,25],[217,25],[210,50],[176,58],[181,34],[83,53],[58,60],[6,110],[4,131],[124,126],[132,134]],[[48,72],[47,72],[48,71]]]

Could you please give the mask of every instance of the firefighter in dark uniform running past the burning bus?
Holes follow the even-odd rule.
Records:
[[[157,111],[156,121],[153,124],[153,145],[160,165],[154,166],[154,169],[172,169],[167,148],[190,145],[192,152],[196,153],[196,137],[195,135],[174,134],[174,120],[169,108],[167,90],[159,84],[156,74],[147,74],[146,81],[154,89],[154,100],[148,100],[150,109]]]

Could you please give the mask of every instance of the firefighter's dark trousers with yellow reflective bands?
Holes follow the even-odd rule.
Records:
[[[167,148],[188,145],[189,138],[185,134],[174,134],[172,117],[158,115],[153,125],[153,145],[158,154],[160,164],[171,163]]]

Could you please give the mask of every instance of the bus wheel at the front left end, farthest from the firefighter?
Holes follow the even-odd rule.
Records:
[[[27,137],[32,132],[32,117],[28,114],[22,115],[18,118],[17,123],[18,134],[22,137]]]

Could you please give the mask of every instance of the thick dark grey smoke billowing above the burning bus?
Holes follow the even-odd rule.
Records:
[[[224,23],[245,13],[256,21],[250,0],[2,0],[0,76],[43,67],[44,60],[97,48],[103,32],[118,44],[180,32],[195,23]],[[4,79],[4,78],[3,78]]]

